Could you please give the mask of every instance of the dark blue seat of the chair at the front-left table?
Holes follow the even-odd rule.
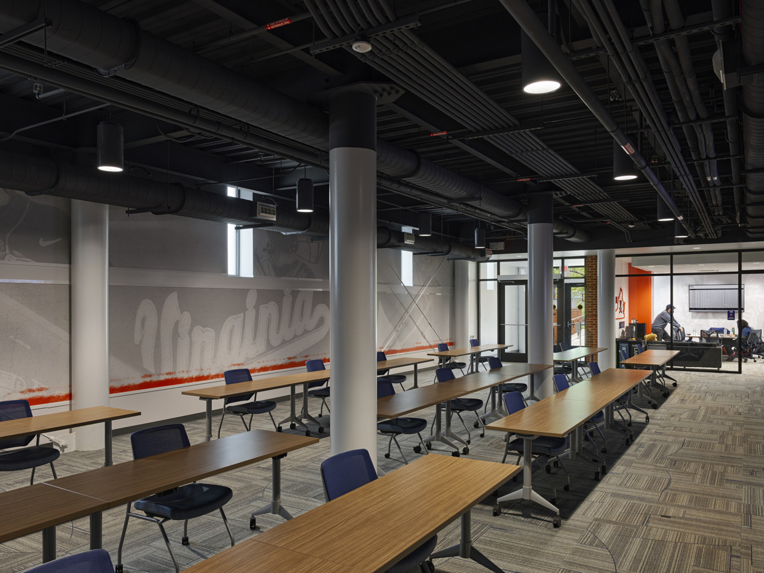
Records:
[[[213,484],[187,484],[166,495],[152,495],[135,502],[135,509],[170,520],[193,520],[219,510],[233,497],[230,487]]]

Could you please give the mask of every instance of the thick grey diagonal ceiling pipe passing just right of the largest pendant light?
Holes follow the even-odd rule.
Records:
[[[578,70],[575,69],[571,60],[565,53],[562,53],[560,47],[557,45],[552,36],[546,30],[545,26],[539,21],[539,18],[533,13],[533,9],[526,4],[525,0],[500,0],[504,8],[515,18],[520,27],[526,31],[536,42],[536,45],[545,54],[547,59],[554,64],[557,71],[568,83],[568,86],[576,92],[581,101],[589,108],[594,116],[600,120],[601,124],[607,130],[608,133],[617,141],[617,143],[623,147],[624,151],[628,153],[635,163],[637,169],[639,169],[649,183],[656,189],[656,191],[663,197],[666,204],[677,216],[677,219],[681,221],[681,224],[687,229],[691,238],[695,238],[695,231],[691,228],[691,225],[685,219],[685,215],[682,215],[681,210],[676,206],[676,203],[672,199],[671,195],[665,190],[661,181],[656,173],[654,173],[648,166],[647,161],[633,146],[626,133],[618,126],[618,123],[607,109],[602,105],[597,95],[589,87],[588,83],[581,77]]]

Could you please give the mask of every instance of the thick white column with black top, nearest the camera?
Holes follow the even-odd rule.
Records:
[[[341,92],[329,111],[332,455],[377,461],[377,102]]]

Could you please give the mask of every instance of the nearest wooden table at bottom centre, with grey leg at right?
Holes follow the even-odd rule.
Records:
[[[470,510],[519,471],[516,465],[425,455],[268,529],[256,539],[306,557],[338,563],[348,571],[377,573],[386,571],[461,516],[460,544],[435,552],[432,558],[471,558],[502,573],[472,545]],[[395,525],[385,525],[390,523]],[[190,571],[196,573],[193,568]],[[252,562],[248,571],[292,569],[266,569]]]

